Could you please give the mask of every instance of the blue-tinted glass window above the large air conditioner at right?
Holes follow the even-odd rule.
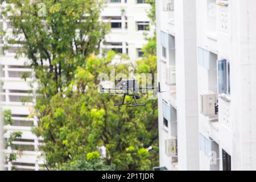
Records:
[[[227,60],[218,61],[218,93],[230,95],[230,63]]]

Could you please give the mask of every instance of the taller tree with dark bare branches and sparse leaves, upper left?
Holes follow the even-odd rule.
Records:
[[[98,53],[109,30],[108,24],[99,21],[103,1],[5,2],[13,6],[2,6],[2,15],[15,28],[10,37],[2,34],[9,44],[22,44],[19,53],[31,60],[27,64],[34,69],[40,84],[38,92],[46,101],[69,85],[73,72],[85,65],[90,53]]]

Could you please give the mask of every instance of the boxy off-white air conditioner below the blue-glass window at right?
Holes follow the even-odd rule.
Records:
[[[201,92],[201,113],[212,117],[215,114],[216,94],[212,91]]]

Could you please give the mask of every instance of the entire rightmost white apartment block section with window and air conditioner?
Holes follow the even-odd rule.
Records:
[[[255,10],[197,0],[200,169],[256,169]]]

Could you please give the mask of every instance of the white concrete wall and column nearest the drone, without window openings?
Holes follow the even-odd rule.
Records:
[[[174,12],[163,10],[164,1],[156,1],[158,34],[158,73],[164,89],[170,92],[159,96],[159,147],[160,166],[168,169],[199,169],[199,129],[197,111],[197,57],[196,57],[196,1],[175,1]],[[168,17],[166,19],[166,17]],[[175,61],[173,56],[162,56],[161,31],[175,36]],[[168,51],[167,51],[168,52]],[[175,62],[176,85],[166,85],[166,67]],[[164,76],[163,76],[164,75]],[[162,102],[177,110],[177,156],[176,165],[164,152],[164,139],[171,132],[163,129]],[[175,168],[174,168],[175,167]]]

